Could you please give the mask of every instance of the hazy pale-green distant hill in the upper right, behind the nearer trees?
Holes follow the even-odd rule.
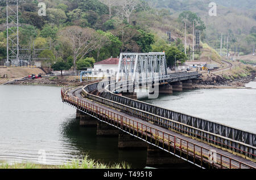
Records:
[[[215,49],[220,48],[221,33],[230,35],[232,46],[240,52],[251,53],[256,43],[256,4],[254,0],[146,0],[151,7],[168,10],[171,17],[183,11],[195,12],[207,27],[204,41]],[[209,16],[209,3],[217,5],[217,16]]]

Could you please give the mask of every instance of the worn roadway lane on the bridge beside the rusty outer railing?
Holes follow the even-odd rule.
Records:
[[[105,106],[105,105],[101,105],[101,104],[98,104],[92,100],[89,100],[87,98],[84,98],[81,96],[81,88],[82,87],[79,87],[79,88],[76,88],[76,89],[73,89],[71,91],[68,92],[69,95],[73,95],[77,98],[79,98],[80,100],[83,100],[85,102],[89,102],[90,104],[94,104],[94,105],[97,105],[98,107],[100,108],[103,108],[103,109],[107,109],[109,110],[110,112],[114,112],[116,115],[122,115],[123,117],[127,117],[129,119],[134,119],[135,121],[139,122],[139,123],[143,123],[143,125],[147,125],[146,126],[141,126],[141,127],[137,127],[137,125],[134,125],[135,128],[142,128],[142,131],[144,132],[148,132],[148,131],[152,131],[152,134],[155,134],[155,130],[154,129],[157,129],[157,130],[160,130],[162,132],[164,132],[164,134],[166,133],[166,135],[164,134],[159,134],[160,138],[163,138],[164,137],[167,137],[167,134],[171,134],[172,136],[176,136],[176,144],[172,144],[172,146],[174,147],[180,147],[182,146],[183,149],[193,149],[193,144],[196,144],[197,146],[199,147],[204,147],[205,149],[203,149],[203,155],[205,155],[205,157],[209,157],[209,151],[207,149],[210,149],[210,150],[214,150],[216,151],[217,153],[220,153],[221,155],[224,155],[226,157],[229,157],[229,158],[232,158],[233,160],[236,160],[238,162],[243,162],[244,164],[247,164],[249,166],[252,166],[254,168],[256,168],[256,163],[253,162],[253,161],[250,161],[250,160],[247,160],[245,158],[242,158],[240,156],[236,156],[234,155],[233,153],[229,153],[229,152],[226,152],[226,151],[223,151],[222,149],[219,149],[219,148],[216,148],[216,147],[213,147],[211,145],[208,145],[208,144],[205,144],[205,143],[202,143],[202,142],[199,142],[198,140],[195,140],[195,139],[191,139],[187,136],[184,136],[184,135],[181,135],[181,134],[177,134],[176,132],[173,132],[173,131],[170,131],[170,130],[167,130],[166,128],[162,128],[162,127],[159,127],[159,126],[156,126],[156,125],[153,125],[152,123],[150,122],[146,122],[146,121],[143,121],[142,119],[139,119],[137,117],[133,117],[129,114],[125,114],[125,113],[122,113],[122,112],[119,112],[118,110],[115,110],[113,108],[110,108],[108,106]],[[148,128],[152,128],[152,130],[149,130]],[[180,140],[180,139],[183,139],[183,140]],[[172,142],[174,142],[174,139],[170,139]],[[186,141],[190,142],[190,143],[187,143]],[[167,142],[168,142],[168,139],[167,139]],[[167,143],[165,142],[165,143]],[[199,148],[196,148],[196,151],[200,153],[200,149]],[[217,161],[220,160],[220,157],[218,157],[217,155]],[[208,161],[208,160],[207,160]],[[235,162],[235,161],[232,161],[232,168],[240,168],[240,164],[238,162]],[[222,157],[222,166],[226,166],[226,168],[229,168],[230,167],[230,160],[228,158],[225,158],[225,157]],[[241,168],[247,168],[246,166],[242,165]]]

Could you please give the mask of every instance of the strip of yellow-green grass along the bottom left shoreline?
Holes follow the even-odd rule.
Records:
[[[6,162],[0,162],[0,169],[130,169],[131,166],[126,162],[114,165],[105,165],[98,161],[90,159],[88,156],[84,156],[81,160],[72,160],[63,165],[43,165],[34,164],[31,162],[22,162],[9,164]]]

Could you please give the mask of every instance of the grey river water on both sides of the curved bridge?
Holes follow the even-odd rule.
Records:
[[[247,84],[256,88],[256,82]],[[118,150],[117,138],[79,127],[76,110],[63,104],[60,87],[0,85],[0,161],[63,164],[88,154],[106,164],[146,166],[146,150]],[[197,89],[146,102],[256,132],[255,89]]]

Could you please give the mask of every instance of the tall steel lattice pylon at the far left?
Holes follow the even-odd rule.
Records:
[[[19,66],[19,0],[6,0],[6,66]]]

